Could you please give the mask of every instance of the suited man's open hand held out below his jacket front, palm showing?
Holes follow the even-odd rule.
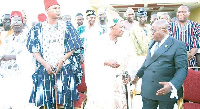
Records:
[[[159,89],[156,95],[166,95],[172,90],[172,86],[169,82],[159,82],[159,84],[163,85],[163,88]]]

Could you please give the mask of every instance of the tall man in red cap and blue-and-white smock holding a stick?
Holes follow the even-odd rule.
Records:
[[[29,102],[47,109],[54,109],[57,102],[65,109],[73,109],[74,100],[79,98],[77,85],[82,77],[79,56],[82,43],[72,24],[59,20],[58,2],[44,0],[44,5],[47,20],[36,24],[27,40],[27,48],[36,59]]]

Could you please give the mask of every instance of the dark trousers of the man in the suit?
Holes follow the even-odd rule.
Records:
[[[158,106],[159,106],[159,109],[173,109],[174,104],[177,102],[177,101],[151,100],[144,97],[142,97],[142,101],[143,101],[142,109],[157,109]]]

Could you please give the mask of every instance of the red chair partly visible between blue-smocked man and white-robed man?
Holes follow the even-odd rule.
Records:
[[[85,70],[84,70],[84,64],[81,64],[81,67],[83,69],[83,76],[81,79],[81,84],[78,86],[78,92],[79,92],[79,100],[74,102],[75,109],[84,109],[87,96],[86,96],[86,91],[87,91],[87,86],[85,83]]]

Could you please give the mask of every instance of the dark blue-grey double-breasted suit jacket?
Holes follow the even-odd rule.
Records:
[[[171,82],[182,97],[182,84],[187,76],[186,45],[169,36],[151,57],[150,49],[155,41],[149,43],[148,54],[137,76],[142,78],[141,95],[148,99],[171,101],[169,92],[166,95],[156,95],[163,85],[158,82]]]

